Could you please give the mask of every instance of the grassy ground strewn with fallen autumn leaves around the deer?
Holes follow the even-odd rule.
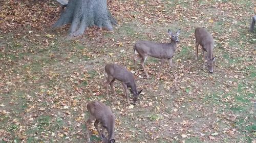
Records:
[[[59,16],[54,1],[0,4],[0,142],[86,142],[91,100],[113,110],[117,142],[256,141],[252,1],[109,0],[115,30],[92,27],[74,40],[63,38],[68,26],[50,30]],[[197,26],[214,36],[214,74],[203,69],[201,50],[194,60]],[[143,89],[137,105],[126,103],[118,81],[119,98],[106,99],[106,63],[134,70],[135,41],[168,42],[167,30],[179,28],[176,77],[166,62],[157,79],[160,62],[148,58],[151,78],[141,67],[135,74]],[[100,142],[93,124],[90,130]]]

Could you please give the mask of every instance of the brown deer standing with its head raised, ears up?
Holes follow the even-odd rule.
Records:
[[[152,41],[137,41],[135,43],[134,53],[138,54],[138,56],[134,59],[134,66],[136,72],[137,61],[140,60],[140,64],[146,74],[146,77],[150,77],[144,67],[144,63],[148,55],[154,58],[161,59],[158,78],[160,78],[161,70],[166,59],[169,61],[170,68],[173,69],[172,58],[174,56],[174,52],[176,51],[177,43],[179,42],[178,35],[180,34],[180,30],[178,30],[175,34],[173,34],[172,31],[168,30],[168,34],[170,35],[171,39],[170,43],[157,43]]]

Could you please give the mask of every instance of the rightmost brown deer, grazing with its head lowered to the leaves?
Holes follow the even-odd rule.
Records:
[[[211,36],[211,34],[207,30],[205,30],[205,28],[202,28],[202,27],[196,28],[195,37],[196,37],[195,60],[197,61],[197,58],[198,58],[198,46],[200,44],[202,47],[203,58],[204,58],[203,68],[205,68],[205,59],[206,59],[209,72],[214,73],[214,64],[216,59],[216,56],[214,57],[212,53],[214,50],[214,38]],[[207,52],[206,55],[205,55],[205,52]]]

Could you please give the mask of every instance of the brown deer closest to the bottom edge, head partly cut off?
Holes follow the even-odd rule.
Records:
[[[89,119],[86,121],[87,128],[87,137],[88,142],[90,142],[90,131],[89,124],[91,124],[94,120],[94,126],[97,129],[101,139],[104,143],[114,143],[116,140],[115,137],[115,118],[111,111],[111,109],[106,106],[104,103],[100,101],[91,101],[87,104],[87,110],[90,113]],[[98,124],[101,124],[101,131],[99,130]],[[106,138],[104,135],[104,131],[108,131],[109,137]]]

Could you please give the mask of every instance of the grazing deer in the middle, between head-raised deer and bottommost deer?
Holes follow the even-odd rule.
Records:
[[[136,101],[138,100],[138,96],[140,95],[142,90],[140,90],[139,92],[137,91],[133,73],[128,71],[125,67],[121,65],[111,64],[111,63],[105,65],[104,71],[105,71],[104,75],[107,80],[105,86],[106,86],[106,93],[107,93],[106,95],[108,99],[109,99],[109,91],[108,91],[109,84],[111,86],[112,92],[117,98],[117,95],[114,89],[114,84],[113,84],[114,81],[117,79],[122,82],[128,104],[130,103],[128,88],[131,88],[130,91],[133,94],[133,104],[136,104]]]

